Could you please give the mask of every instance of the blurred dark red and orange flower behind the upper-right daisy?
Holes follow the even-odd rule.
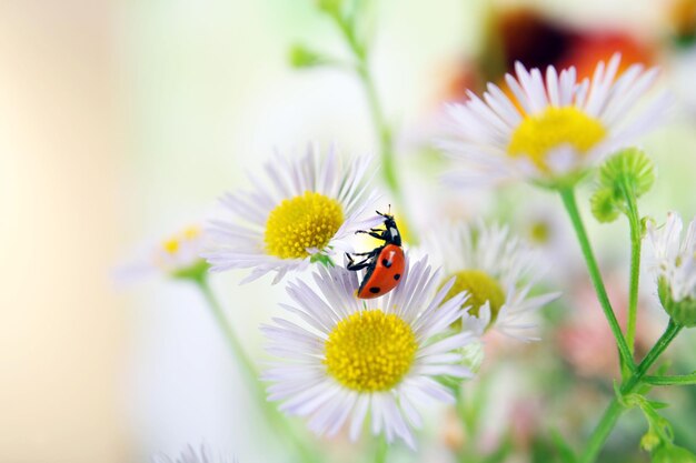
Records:
[[[539,69],[574,66],[578,79],[584,79],[593,76],[597,62],[620,53],[620,73],[634,63],[653,63],[654,43],[659,39],[645,29],[640,37],[635,37],[628,30],[606,24],[571,23],[528,6],[493,7],[485,21],[481,50],[475,59],[458,63],[449,72],[446,101],[466,99],[467,90],[483,91],[487,82],[500,84],[508,93],[504,76],[517,62]]]

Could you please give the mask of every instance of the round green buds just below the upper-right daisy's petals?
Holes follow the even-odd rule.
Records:
[[[599,222],[613,222],[625,214],[655,182],[653,161],[637,148],[627,148],[607,159],[599,168],[597,188],[590,199]]]

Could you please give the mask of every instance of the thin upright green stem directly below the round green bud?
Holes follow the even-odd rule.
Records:
[[[628,322],[626,324],[626,343],[632,355],[635,352],[636,342],[636,320],[638,314],[638,284],[640,279],[640,244],[642,229],[640,215],[636,195],[626,183],[622,184],[624,199],[626,200],[628,225],[630,228],[630,281],[628,290]]]

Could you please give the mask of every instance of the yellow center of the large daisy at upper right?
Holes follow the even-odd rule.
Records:
[[[606,129],[595,118],[575,107],[549,107],[544,112],[527,115],[519,123],[507,148],[511,157],[526,155],[546,171],[546,155],[564,144],[586,153],[606,137]]]

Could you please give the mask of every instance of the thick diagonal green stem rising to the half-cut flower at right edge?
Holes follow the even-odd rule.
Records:
[[[599,452],[604,447],[604,443],[607,437],[612,433],[612,430],[616,425],[620,414],[626,410],[624,406],[623,397],[634,391],[636,386],[640,384],[645,374],[649,370],[650,366],[655,363],[655,361],[665,352],[665,349],[674,341],[679,331],[682,330],[682,325],[675,324],[672,320],[667,325],[667,329],[663,333],[663,335],[657,340],[653,349],[647,353],[643,362],[638,364],[634,373],[630,378],[622,385],[620,387],[620,397],[614,397],[607,410],[604,412],[601,420],[593,431],[587,445],[585,446],[585,452],[580,457],[580,463],[593,463]]]

